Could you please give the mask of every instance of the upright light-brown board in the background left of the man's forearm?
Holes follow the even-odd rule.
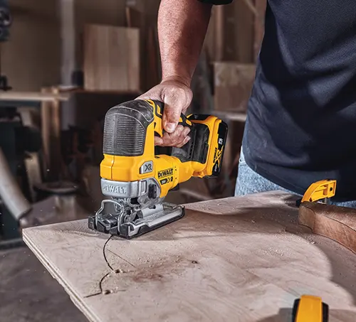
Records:
[[[140,92],[140,31],[87,25],[84,36],[86,90]]]

